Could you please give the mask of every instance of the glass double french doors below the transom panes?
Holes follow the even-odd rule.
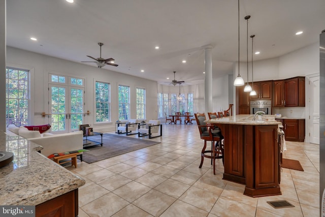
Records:
[[[49,84],[49,99],[52,131],[67,133],[79,130],[84,118],[84,88]]]

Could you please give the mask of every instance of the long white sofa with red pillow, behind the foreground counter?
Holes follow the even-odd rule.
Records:
[[[9,132],[8,132],[9,131]],[[62,153],[66,151],[83,149],[83,131],[76,131],[72,133],[51,134],[39,131],[29,131],[24,127],[16,127],[9,125],[7,128],[9,134],[16,134],[29,141],[43,146],[41,153],[48,157],[53,153]],[[80,160],[82,161],[82,152],[80,152]]]

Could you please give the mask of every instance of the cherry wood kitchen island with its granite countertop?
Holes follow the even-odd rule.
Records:
[[[245,184],[244,195],[281,195],[280,142],[274,116],[252,120],[241,114],[206,120],[217,126],[224,137],[223,179]]]

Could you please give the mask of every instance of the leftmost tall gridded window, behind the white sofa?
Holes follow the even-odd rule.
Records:
[[[29,71],[6,69],[6,126],[29,123]]]

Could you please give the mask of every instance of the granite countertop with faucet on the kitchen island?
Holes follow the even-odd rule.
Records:
[[[280,121],[276,121],[274,115],[262,115],[262,120],[252,120],[253,114],[237,114],[228,117],[219,117],[206,120],[207,123],[226,123],[230,125],[281,125]]]

